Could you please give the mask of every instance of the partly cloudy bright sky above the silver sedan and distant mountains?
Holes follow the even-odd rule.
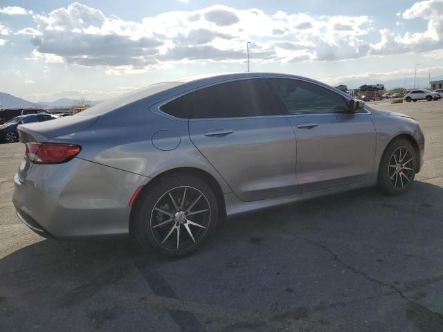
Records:
[[[419,64],[428,86],[443,78],[443,0],[0,0],[0,91],[104,100],[246,71],[247,42],[251,71],[412,87]]]

